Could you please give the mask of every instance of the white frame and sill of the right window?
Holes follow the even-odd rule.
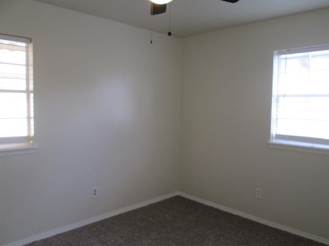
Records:
[[[329,155],[329,139],[276,134],[277,99],[279,97],[277,93],[279,84],[279,57],[281,55],[309,53],[314,51],[329,51],[329,45],[277,50],[273,52],[271,125],[270,140],[268,141],[268,146],[270,148]],[[304,95],[307,96],[307,94],[301,94],[301,97]]]

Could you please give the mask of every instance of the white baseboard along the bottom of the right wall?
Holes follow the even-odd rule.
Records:
[[[256,217],[256,216],[253,216],[253,215],[250,215],[250,214],[246,214],[246,213],[234,210],[234,209],[230,209],[230,208],[222,206],[220,204],[216,204],[216,203],[211,202],[211,201],[207,201],[207,200],[195,197],[195,196],[191,196],[191,195],[186,194],[184,192],[178,192],[178,195],[182,196],[182,197],[185,197],[187,199],[193,200],[193,201],[197,201],[199,203],[203,203],[207,206],[210,206],[210,207],[213,207],[213,208],[216,208],[216,209],[234,214],[234,215],[239,215],[243,218],[250,219],[250,220],[253,220],[253,221],[261,223],[261,224],[266,224],[266,226],[269,226],[269,227],[272,227],[272,228],[276,228],[276,229],[279,229],[279,230],[282,230],[282,231],[285,231],[285,232],[289,232],[291,234],[295,234],[295,235],[298,235],[298,236],[301,236],[301,237],[304,237],[304,238],[307,238],[307,239],[311,239],[311,240],[329,245],[329,239],[327,239],[327,238],[318,237],[318,236],[315,236],[315,235],[312,235],[312,234],[309,234],[309,233],[306,233],[306,232],[302,232],[302,231],[299,231],[299,230],[296,230],[296,229],[293,229],[293,228],[290,228],[290,227],[282,226],[281,224],[278,224],[278,223],[275,223],[275,222],[272,222],[272,221],[269,221],[269,220],[261,219],[259,217]]]

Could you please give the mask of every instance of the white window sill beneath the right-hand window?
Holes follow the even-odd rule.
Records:
[[[294,141],[269,141],[268,147],[279,150],[291,150],[319,155],[329,155],[329,147],[325,145],[311,145]]]

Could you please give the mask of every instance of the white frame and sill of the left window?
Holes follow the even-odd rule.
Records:
[[[32,40],[30,38],[0,33],[0,39],[26,44],[26,88],[25,90],[1,89],[3,93],[24,93],[26,95],[27,136],[0,137],[0,157],[35,153],[38,146],[34,142],[33,116],[33,57]]]

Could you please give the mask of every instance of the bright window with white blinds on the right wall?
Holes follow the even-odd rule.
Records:
[[[329,154],[329,45],[274,53],[270,146],[280,145]]]

